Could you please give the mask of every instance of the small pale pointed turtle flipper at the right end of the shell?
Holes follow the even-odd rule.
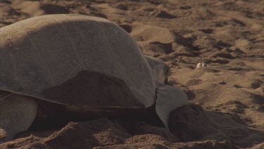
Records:
[[[170,85],[161,85],[157,88],[156,113],[167,128],[170,113],[174,109],[187,105],[188,103],[187,95],[178,88]]]

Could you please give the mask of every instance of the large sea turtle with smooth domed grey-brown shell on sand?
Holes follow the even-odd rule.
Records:
[[[0,139],[60,112],[110,117],[154,107],[168,127],[170,112],[188,103],[164,84],[168,71],[104,18],[57,14],[8,25],[0,29]]]

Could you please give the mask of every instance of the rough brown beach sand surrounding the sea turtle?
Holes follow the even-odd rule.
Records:
[[[264,148],[263,0],[1,0],[0,27],[51,13],[108,18],[171,68],[193,105],[170,135],[144,121],[95,119],[27,131],[0,148]],[[207,67],[196,68],[204,61]]]

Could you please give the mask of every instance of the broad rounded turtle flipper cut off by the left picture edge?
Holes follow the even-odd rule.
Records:
[[[37,114],[37,102],[32,97],[1,91],[0,143],[11,141],[16,133],[26,131]]]

